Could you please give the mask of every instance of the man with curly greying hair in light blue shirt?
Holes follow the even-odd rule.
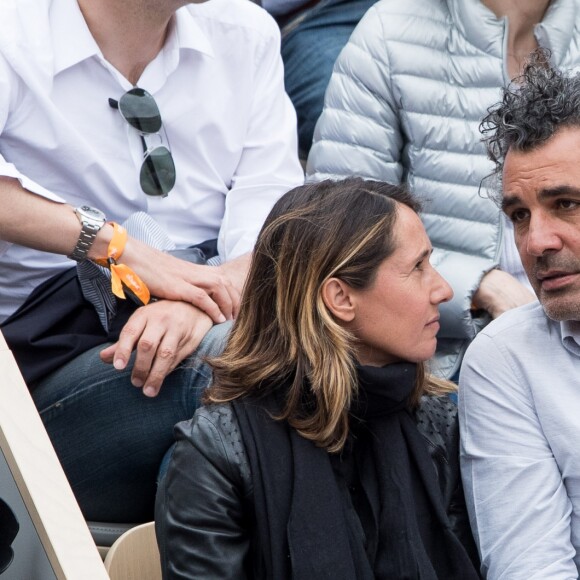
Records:
[[[580,75],[537,53],[483,122],[502,209],[539,302],[474,340],[461,462],[485,578],[580,570]]]

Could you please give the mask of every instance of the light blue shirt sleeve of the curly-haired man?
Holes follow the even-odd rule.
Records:
[[[572,506],[515,360],[485,332],[463,361],[461,471],[488,580],[578,578]]]

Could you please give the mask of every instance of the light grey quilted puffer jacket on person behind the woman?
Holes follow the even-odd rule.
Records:
[[[579,29],[580,0],[552,0],[535,35],[554,64],[573,68]],[[511,228],[479,195],[492,171],[479,124],[509,80],[506,41],[507,19],[480,0],[377,2],[337,60],[308,158],[309,181],[406,181],[424,198],[433,264],[455,292],[441,307],[432,369],[446,376],[488,321],[471,311],[483,275],[500,259],[522,274]]]

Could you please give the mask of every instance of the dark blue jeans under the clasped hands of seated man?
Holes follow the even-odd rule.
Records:
[[[214,326],[150,399],[131,370],[104,364],[92,349],[52,373],[32,397],[87,520],[153,519],[157,472],[173,426],[189,419],[211,379],[204,357],[221,352],[231,323]]]

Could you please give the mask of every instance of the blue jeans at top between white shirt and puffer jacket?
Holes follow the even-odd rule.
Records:
[[[298,116],[300,157],[306,159],[322,112],[332,67],[364,13],[376,0],[321,0],[289,19],[282,29],[284,83]]]

